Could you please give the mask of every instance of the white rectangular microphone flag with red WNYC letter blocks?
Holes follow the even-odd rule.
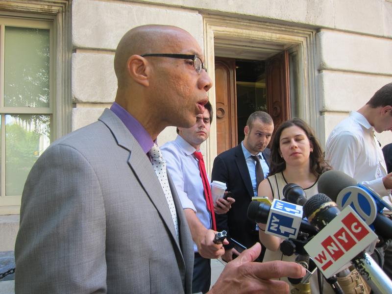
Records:
[[[351,208],[345,207],[304,246],[322,274],[329,278],[377,240],[377,235]]]

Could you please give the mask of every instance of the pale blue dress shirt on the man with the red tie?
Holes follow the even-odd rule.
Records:
[[[193,153],[196,151],[181,136],[161,147],[167,169],[172,177],[182,208],[195,211],[197,218],[207,229],[211,228],[211,215],[207,210],[203,182],[200,177],[198,161]],[[211,180],[208,177],[208,182]],[[197,252],[197,246],[194,244]]]

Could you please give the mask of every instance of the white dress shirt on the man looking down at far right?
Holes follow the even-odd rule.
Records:
[[[384,156],[374,128],[360,113],[351,111],[332,130],[325,147],[325,159],[335,169],[345,172],[380,196],[389,196],[382,178],[387,175]]]

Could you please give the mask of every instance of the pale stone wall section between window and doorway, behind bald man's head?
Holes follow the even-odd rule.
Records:
[[[203,45],[203,19],[197,11],[143,3],[75,0],[72,10],[72,128],[97,120],[110,107],[117,90],[114,51],[123,34],[138,25],[175,25]],[[106,103],[106,104],[105,104]],[[158,144],[173,140],[175,128],[165,129]]]

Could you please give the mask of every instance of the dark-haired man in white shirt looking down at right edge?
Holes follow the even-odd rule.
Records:
[[[374,131],[391,130],[392,83],[389,83],[379,89],[366,105],[358,111],[351,111],[348,118],[335,126],[327,140],[325,159],[335,170],[345,172],[390,200],[392,173],[387,173]],[[391,272],[386,270],[390,276]]]

